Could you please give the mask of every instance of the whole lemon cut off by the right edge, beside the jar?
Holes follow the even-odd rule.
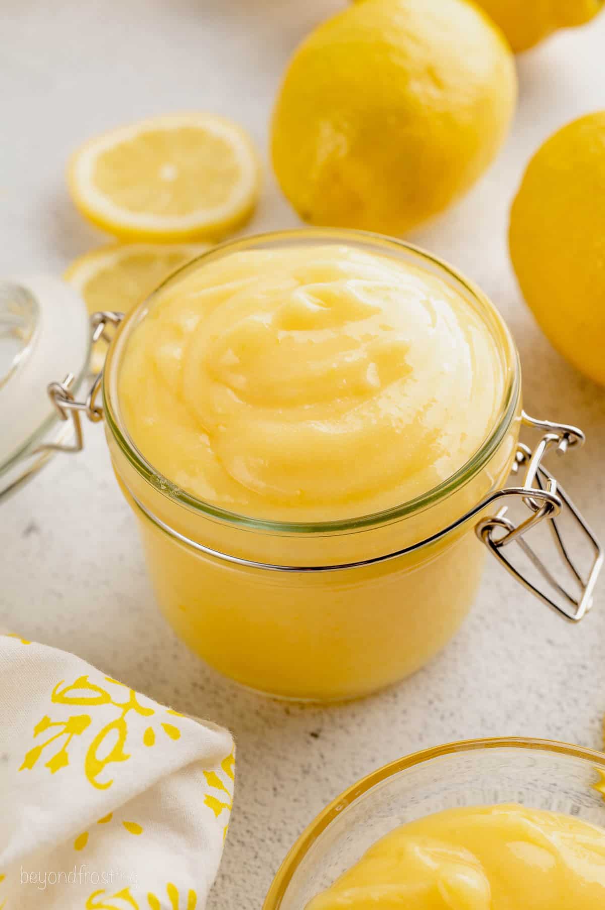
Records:
[[[552,344],[605,385],[605,111],[564,126],[531,159],[509,247]]]

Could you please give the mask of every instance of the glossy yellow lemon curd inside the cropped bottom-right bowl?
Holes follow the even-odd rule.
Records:
[[[388,834],[307,910],[602,910],[605,831],[569,815],[449,809]]]

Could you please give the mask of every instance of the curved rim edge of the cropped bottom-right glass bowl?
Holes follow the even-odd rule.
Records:
[[[407,771],[418,764],[428,763],[435,758],[456,753],[486,752],[490,749],[511,749],[519,752],[534,751],[567,755],[571,758],[580,758],[590,762],[592,766],[596,765],[598,770],[605,773],[605,754],[603,753],[584,746],[574,745],[573,743],[560,743],[556,740],[534,739],[524,736],[459,740],[455,743],[445,743],[430,749],[422,749],[419,752],[398,758],[394,762],[377,768],[376,771],[362,777],[356,784],[349,786],[336,799],[332,800],[311,824],[308,824],[308,827],[290,847],[285,859],[279,866],[277,875],[267,892],[263,910],[279,910],[298,866],[302,863],[313,844],[316,843],[318,837],[326,831],[329,824],[338,818],[343,809],[347,809],[350,805],[357,802],[358,799],[368,794],[375,786],[382,784],[402,771]]]

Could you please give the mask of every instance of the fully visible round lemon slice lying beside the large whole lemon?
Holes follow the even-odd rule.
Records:
[[[72,157],[68,184],[85,217],[119,238],[217,238],[258,196],[247,133],[224,117],[173,114],[96,136]]]

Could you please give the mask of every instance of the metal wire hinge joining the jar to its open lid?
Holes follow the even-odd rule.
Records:
[[[107,344],[111,341],[111,336],[106,332],[108,326],[118,326],[124,319],[124,313],[117,313],[112,310],[93,313],[90,317],[90,326],[92,329],[91,342],[103,339]],[[48,396],[55,405],[61,420],[69,420],[71,417],[74,423],[75,440],[70,445],[65,443],[46,442],[36,451],[60,451],[60,452],[79,452],[84,448],[84,435],[82,432],[82,421],[80,414],[85,416],[92,423],[98,423],[103,420],[103,408],[96,403],[98,391],[101,388],[103,370],[96,374],[93,384],[90,387],[84,401],[76,401],[71,387],[74,383],[75,376],[73,373],[67,373],[62,382],[51,382],[48,386]]]

